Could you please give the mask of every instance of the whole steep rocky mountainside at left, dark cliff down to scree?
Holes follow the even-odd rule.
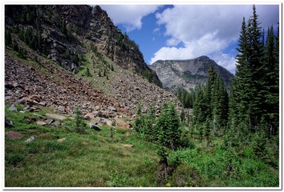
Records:
[[[84,114],[110,118],[133,117],[138,102],[144,112],[151,103],[159,111],[170,101],[181,110],[177,98],[158,86],[136,44],[99,6],[5,8],[5,32],[11,36],[5,49],[7,102],[66,114],[79,105]]]

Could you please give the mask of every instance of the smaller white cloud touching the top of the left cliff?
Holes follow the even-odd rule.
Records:
[[[112,19],[114,24],[122,24],[126,31],[141,29],[142,18],[148,14],[154,13],[158,9],[158,5],[102,5],[102,9]]]

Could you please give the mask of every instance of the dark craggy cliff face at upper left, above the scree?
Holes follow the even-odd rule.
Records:
[[[122,34],[99,6],[6,5],[5,25],[22,33],[30,30],[40,42],[35,48],[38,52],[74,73],[80,71],[81,58],[88,52],[89,45],[107,55],[116,65],[131,69],[161,86],[136,43]]]

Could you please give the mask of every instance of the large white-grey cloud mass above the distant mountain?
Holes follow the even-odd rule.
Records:
[[[151,58],[189,59],[212,55],[218,64],[234,71],[234,56],[223,53],[230,43],[239,39],[242,18],[252,14],[251,5],[176,5],[156,14],[158,26],[165,26],[167,47],[160,48]],[[278,22],[278,5],[257,5],[261,26]],[[182,48],[170,47],[183,43]]]

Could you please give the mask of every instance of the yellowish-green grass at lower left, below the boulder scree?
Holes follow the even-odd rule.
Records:
[[[38,113],[45,112],[50,110],[41,107]],[[156,185],[155,145],[138,139],[132,130],[115,127],[112,140],[107,126],[102,127],[102,132],[87,129],[87,134],[78,134],[72,128],[66,129],[72,119],[65,120],[64,126],[47,127],[29,122],[29,118],[39,119],[33,112],[6,110],[5,116],[14,124],[5,131],[23,134],[22,139],[5,139],[6,187]],[[24,141],[31,136],[35,140],[26,144]],[[62,137],[66,137],[65,142],[58,143]]]

